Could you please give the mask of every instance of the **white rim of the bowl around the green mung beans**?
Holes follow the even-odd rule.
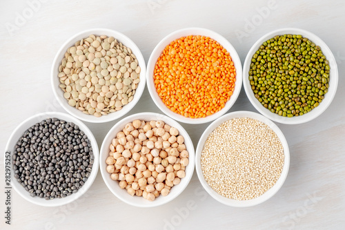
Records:
[[[326,56],[326,59],[329,61],[329,66],[331,67],[330,70],[330,82],[329,82],[329,88],[328,93],[324,95],[324,99],[322,102],[314,108],[312,111],[297,117],[283,117],[279,116],[276,113],[272,113],[268,110],[268,108],[265,108],[254,96],[253,90],[250,86],[249,82],[249,69],[250,69],[250,63],[251,59],[254,55],[254,53],[259,49],[259,47],[264,43],[264,41],[267,41],[268,39],[271,39],[275,37],[275,35],[286,35],[286,34],[292,34],[292,35],[302,35],[303,37],[306,37],[313,41],[317,46],[319,46]],[[244,67],[243,67],[243,85],[244,90],[246,90],[246,95],[248,99],[250,100],[251,104],[265,117],[268,117],[269,119],[272,119],[275,122],[279,122],[282,124],[301,124],[304,122],[309,122],[312,119],[315,119],[324,111],[326,111],[326,108],[331,104],[335,92],[337,91],[337,84],[338,84],[338,69],[337,69],[337,62],[335,61],[335,57],[333,56],[333,53],[331,52],[330,48],[316,35],[314,35],[311,32],[308,32],[306,30],[297,29],[297,28],[282,28],[279,30],[274,30],[272,32],[269,32],[268,34],[261,37],[255,44],[250,48],[248,55],[246,57],[246,61],[244,61]]]

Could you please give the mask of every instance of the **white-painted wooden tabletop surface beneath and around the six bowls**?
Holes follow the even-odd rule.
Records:
[[[0,14],[0,229],[344,229],[345,228],[345,2],[344,1],[2,1]],[[63,111],[52,94],[50,67],[66,39],[88,28],[128,35],[146,62],[157,43],[186,27],[215,30],[242,63],[254,42],[284,27],[309,30],[331,48],[339,68],[337,94],[326,112],[299,125],[277,124],[290,147],[290,172],[270,200],[250,208],[220,204],[196,173],[186,190],[161,207],[141,209],[117,199],[101,174],[88,192],[63,207],[39,207],[12,189],[11,225],[5,223],[3,154],[23,119]],[[255,111],[242,88],[230,111]],[[130,111],[161,113],[147,88]],[[229,112],[230,112],[229,111]],[[99,145],[117,121],[90,124]],[[195,146],[208,124],[182,124]]]

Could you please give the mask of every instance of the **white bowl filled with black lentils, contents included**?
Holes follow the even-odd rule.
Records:
[[[90,188],[99,150],[88,127],[66,113],[39,113],[10,135],[10,182],[29,202],[46,207],[68,204]]]

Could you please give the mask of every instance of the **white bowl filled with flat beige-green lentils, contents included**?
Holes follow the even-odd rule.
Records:
[[[71,115],[86,122],[110,122],[137,104],[145,73],[144,57],[130,38],[95,28],[61,46],[52,64],[52,89]]]

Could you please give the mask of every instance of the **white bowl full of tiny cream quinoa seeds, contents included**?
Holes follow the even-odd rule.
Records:
[[[270,119],[249,111],[216,119],[201,135],[195,153],[204,189],[232,207],[251,207],[275,195],[289,164],[282,131]]]

